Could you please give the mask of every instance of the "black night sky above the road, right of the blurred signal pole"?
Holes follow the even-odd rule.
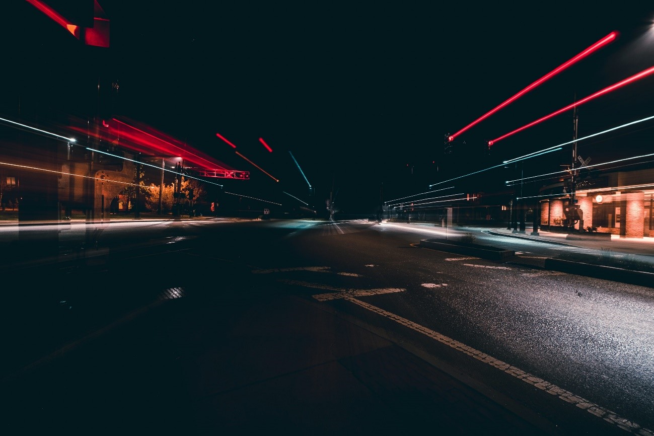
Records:
[[[636,6],[643,2],[99,3],[111,20],[103,59],[120,81],[120,114],[250,171],[232,189],[288,200],[278,195],[285,190],[322,207],[333,186],[349,212],[569,141],[572,111],[485,154],[485,141],[654,65],[654,38],[642,36],[654,8]],[[446,133],[611,31],[617,41],[466,131],[456,153],[443,156]],[[653,97],[654,79],[645,78],[583,105],[579,137],[651,115]],[[593,147],[625,149],[615,141]],[[315,186],[311,199],[289,151]],[[534,165],[557,166],[570,160],[564,152]]]

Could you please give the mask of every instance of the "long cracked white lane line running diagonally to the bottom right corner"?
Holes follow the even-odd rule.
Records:
[[[339,293],[337,295],[340,295],[341,298],[346,299],[347,301],[351,301],[360,307],[364,307],[365,309],[371,310],[381,316],[385,316],[390,320],[398,322],[403,326],[409,327],[418,333],[422,333],[423,335],[426,335],[432,339],[436,339],[436,341],[439,341],[440,343],[451,346],[455,350],[468,354],[468,356],[472,356],[473,358],[480,360],[487,365],[496,367],[500,371],[503,371],[504,373],[507,373],[508,375],[511,375],[518,380],[523,380],[523,382],[531,384],[532,386],[535,386],[536,388],[543,390],[548,394],[556,395],[562,401],[576,405],[579,407],[579,409],[583,409],[589,413],[592,413],[598,418],[602,418],[606,422],[609,422],[610,424],[613,424],[623,430],[630,431],[632,433],[638,433],[642,436],[654,436],[654,432],[647,428],[643,428],[640,426],[640,424],[636,424],[636,422],[622,418],[615,412],[605,409],[600,405],[596,405],[595,403],[579,397],[572,392],[566,391],[553,383],[543,380],[542,378],[527,373],[526,371],[523,371],[522,369],[515,367],[510,363],[506,363],[490,356],[489,354],[475,350],[475,348],[472,348],[472,346],[468,346],[464,343],[460,343],[459,341],[455,341],[455,339],[452,339],[451,337],[441,335],[441,333],[438,333],[438,331],[434,331],[427,327],[421,326],[420,324],[416,324],[415,322],[409,321],[406,318],[402,318],[402,316],[387,312],[384,309],[370,305],[368,303],[364,303],[364,301],[358,300],[352,295],[348,295],[346,293]],[[317,295],[314,295],[313,297],[316,298]]]

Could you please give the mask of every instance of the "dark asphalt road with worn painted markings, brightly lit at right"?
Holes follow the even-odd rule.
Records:
[[[65,231],[60,240],[71,247],[88,241],[83,225]],[[230,305],[293,295],[568,434],[605,431],[607,416],[612,429],[654,428],[651,288],[419,248],[434,231],[368,222],[112,223],[94,231],[97,247],[83,256],[71,249],[52,263],[14,267],[20,286],[5,293],[5,381],[29,380],[175,293],[194,302],[184,304],[224,302],[226,320]],[[492,241],[532,258],[560,250]],[[170,386],[184,392],[177,380]]]

